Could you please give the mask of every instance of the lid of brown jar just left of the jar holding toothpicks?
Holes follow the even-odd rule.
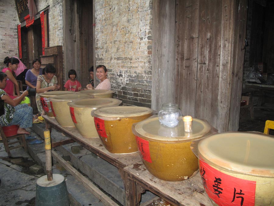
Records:
[[[94,116],[103,120],[113,121],[122,118],[142,120],[143,115],[152,114],[152,109],[148,107],[135,106],[110,106],[102,107],[94,111]]]

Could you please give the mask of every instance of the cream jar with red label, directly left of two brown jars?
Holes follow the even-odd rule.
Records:
[[[100,107],[119,105],[122,101],[115,98],[80,99],[68,103],[70,115],[79,133],[86,138],[99,137],[91,112]]]

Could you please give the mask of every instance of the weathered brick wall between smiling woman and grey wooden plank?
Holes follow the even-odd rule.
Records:
[[[96,65],[104,64],[114,97],[151,107],[152,0],[95,1]]]

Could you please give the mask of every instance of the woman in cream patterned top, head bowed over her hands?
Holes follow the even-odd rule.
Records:
[[[54,76],[56,69],[54,66],[48,64],[44,70],[43,74],[37,77],[36,84],[36,104],[39,114],[44,115],[41,102],[40,102],[40,93],[48,92],[48,91],[57,91],[61,88],[60,85],[57,85],[57,77]]]

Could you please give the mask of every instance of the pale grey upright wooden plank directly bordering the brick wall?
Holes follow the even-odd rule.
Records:
[[[175,1],[153,1],[152,109],[175,101]]]

